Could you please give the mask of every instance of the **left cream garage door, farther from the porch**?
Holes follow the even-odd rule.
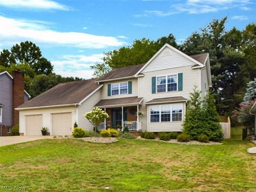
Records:
[[[42,135],[42,115],[26,115],[26,135]]]

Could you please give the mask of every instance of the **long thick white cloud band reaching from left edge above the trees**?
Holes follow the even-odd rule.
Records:
[[[30,40],[35,43],[93,49],[117,47],[126,44],[113,36],[53,31],[44,23],[33,20],[10,19],[0,15],[1,45],[13,45],[24,40]]]

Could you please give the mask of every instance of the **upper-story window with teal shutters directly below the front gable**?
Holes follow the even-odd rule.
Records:
[[[177,74],[157,77],[157,93],[177,91]]]

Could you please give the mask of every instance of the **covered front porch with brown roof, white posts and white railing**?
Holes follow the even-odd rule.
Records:
[[[96,106],[108,113],[109,118],[104,120],[97,130],[113,127],[123,131],[127,127],[129,131],[141,131],[139,110],[142,100],[143,98],[138,97],[100,100]]]

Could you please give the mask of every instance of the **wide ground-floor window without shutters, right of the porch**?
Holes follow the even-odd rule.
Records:
[[[180,122],[182,106],[182,104],[150,106],[150,122]]]

